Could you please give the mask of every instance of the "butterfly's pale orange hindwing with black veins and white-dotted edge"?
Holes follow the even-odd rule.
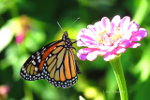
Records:
[[[57,47],[47,60],[47,80],[56,87],[68,88],[78,79],[78,66],[72,48]]]

